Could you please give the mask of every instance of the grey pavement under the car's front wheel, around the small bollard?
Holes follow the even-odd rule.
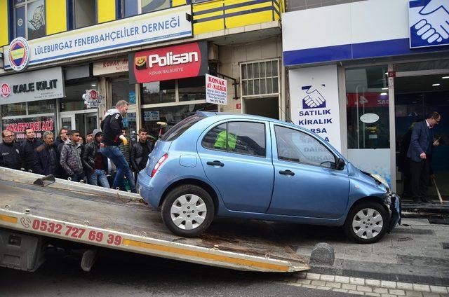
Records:
[[[449,285],[448,225],[429,223],[428,219],[405,218],[402,226],[385,235],[383,240],[366,245],[347,242],[339,228],[300,226],[296,236],[289,237],[287,233],[291,230],[279,229],[290,247],[297,249],[307,261],[319,242],[327,242],[335,249],[334,265],[312,265],[311,272]]]

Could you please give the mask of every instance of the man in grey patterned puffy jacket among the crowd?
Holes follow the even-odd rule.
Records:
[[[79,131],[72,130],[69,139],[65,141],[61,149],[60,165],[72,181],[81,181],[84,178],[81,163],[81,144],[78,141]]]

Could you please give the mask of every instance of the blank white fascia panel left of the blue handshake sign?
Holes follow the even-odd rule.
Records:
[[[368,0],[282,15],[283,50],[404,39],[408,0]]]

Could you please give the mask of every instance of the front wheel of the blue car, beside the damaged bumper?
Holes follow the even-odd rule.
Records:
[[[389,226],[389,215],[379,202],[364,201],[354,205],[344,223],[344,233],[350,240],[369,244],[384,237]]]

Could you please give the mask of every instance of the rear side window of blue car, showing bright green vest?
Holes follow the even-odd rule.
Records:
[[[203,138],[203,146],[249,156],[267,156],[265,125],[251,122],[229,122],[217,125]]]

